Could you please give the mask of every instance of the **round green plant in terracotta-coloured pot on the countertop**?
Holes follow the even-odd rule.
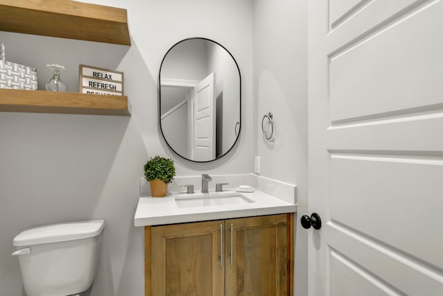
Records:
[[[170,158],[151,157],[145,164],[145,178],[150,182],[151,193],[154,197],[166,196],[168,183],[175,176],[174,162]]]

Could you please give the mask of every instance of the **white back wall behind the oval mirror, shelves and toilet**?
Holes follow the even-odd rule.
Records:
[[[253,1],[90,2],[127,8],[132,46],[0,32],[6,59],[37,67],[39,88],[50,76],[44,64],[58,62],[75,91],[84,63],[124,71],[132,104],[131,117],[0,113],[0,295],[22,295],[17,258],[10,256],[15,235],[33,225],[88,218],[107,223],[91,295],[143,295],[143,229],[133,218],[147,159],[172,157],[177,175],[253,171]],[[221,15],[228,17],[215,21]],[[159,130],[161,60],[177,41],[195,36],[224,44],[243,78],[241,139],[208,164],[173,155]]]

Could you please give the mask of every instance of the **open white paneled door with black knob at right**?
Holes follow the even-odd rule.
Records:
[[[308,207],[309,296],[443,295],[443,1],[309,1]]]

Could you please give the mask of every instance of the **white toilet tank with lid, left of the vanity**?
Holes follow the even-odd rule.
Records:
[[[105,220],[44,225],[14,238],[27,296],[78,295],[96,275]]]

